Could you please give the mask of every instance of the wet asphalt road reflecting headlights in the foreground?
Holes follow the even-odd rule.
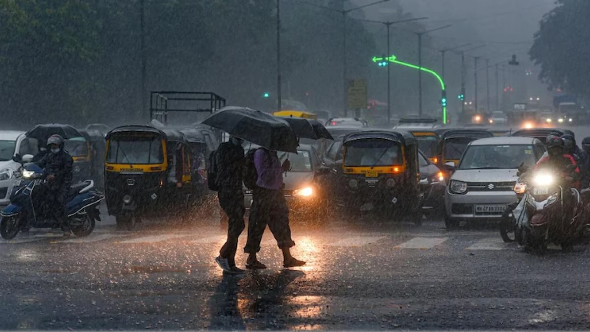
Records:
[[[518,252],[492,227],[371,218],[294,226],[281,268],[264,237],[266,271],[224,276],[213,222],[99,224],[86,238],[46,231],[0,241],[1,329],[579,328],[590,323],[590,253]],[[240,239],[240,247],[245,234]],[[241,250],[240,250],[241,251]],[[243,266],[245,256],[238,253]]]

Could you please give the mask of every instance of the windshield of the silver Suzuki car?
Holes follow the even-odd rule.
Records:
[[[460,170],[515,170],[520,165],[532,167],[536,158],[532,145],[471,145]]]

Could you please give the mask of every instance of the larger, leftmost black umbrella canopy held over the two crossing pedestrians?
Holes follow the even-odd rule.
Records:
[[[260,110],[228,106],[202,123],[270,150],[297,152],[299,145],[289,123]]]

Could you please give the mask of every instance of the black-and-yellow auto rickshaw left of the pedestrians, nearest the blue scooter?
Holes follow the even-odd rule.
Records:
[[[152,126],[114,128],[106,136],[104,181],[109,214],[121,228],[132,229],[148,213],[183,206],[193,193],[185,135]]]

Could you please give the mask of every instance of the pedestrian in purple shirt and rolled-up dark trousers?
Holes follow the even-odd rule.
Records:
[[[257,253],[260,251],[260,242],[267,224],[277,240],[278,248],[283,250],[283,266],[291,268],[305,265],[305,262],[294,258],[290,250],[295,242],[291,239],[289,208],[283,195],[283,172],[289,170],[289,160],[281,165],[276,151],[258,148],[253,155],[253,164],[257,179],[253,186],[253,202],[248,219],[248,241],[244,248],[244,251],[249,254],[246,268],[266,268],[266,265],[258,261]]]

